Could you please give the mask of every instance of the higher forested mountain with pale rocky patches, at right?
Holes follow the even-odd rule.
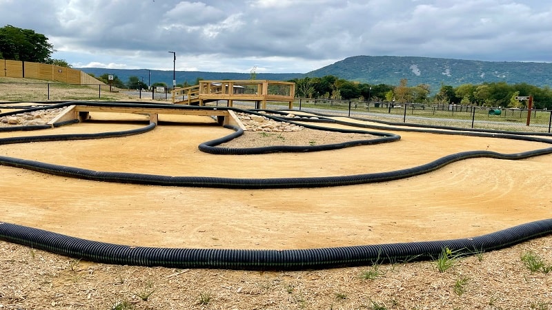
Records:
[[[552,85],[552,63],[471,61],[411,56],[353,56],[308,72],[307,76],[339,76],[370,84],[428,84],[432,92],[441,85],[458,86],[485,82]]]

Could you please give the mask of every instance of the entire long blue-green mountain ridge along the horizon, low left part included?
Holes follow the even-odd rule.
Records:
[[[144,83],[155,82],[172,85],[172,70],[76,68],[95,76],[116,74],[121,81],[130,76],[144,79]],[[151,76],[148,75],[148,71]],[[177,83],[193,84],[198,78],[205,80],[250,79],[249,73],[176,71]],[[409,86],[428,84],[431,92],[437,92],[441,85],[457,87],[462,84],[505,82],[527,83],[538,87],[552,85],[552,63],[515,61],[477,61],[446,59],[422,56],[351,56],[307,73],[257,73],[257,79],[288,81],[304,77],[337,76],[339,79],[358,81],[371,85],[399,85],[407,79]],[[149,80],[148,80],[149,78]]]

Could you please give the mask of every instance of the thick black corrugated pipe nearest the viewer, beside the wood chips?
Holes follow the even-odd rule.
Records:
[[[435,259],[443,249],[457,255],[510,247],[552,232],[552,219],[539,220],[473,238],[359,245],[320,249],[174,249],[129,247],[0,223],[0,239],[55,254],[116,265],[244,270],[304,270]]]

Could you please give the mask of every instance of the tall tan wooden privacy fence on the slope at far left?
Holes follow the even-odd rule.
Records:
[[[68,84],[105,84],[92,76],[72,68],[29,61],[0,59],[0,76],[57,81]]]

